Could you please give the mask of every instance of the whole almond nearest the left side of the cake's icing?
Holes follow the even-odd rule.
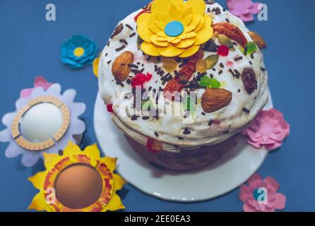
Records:
[[[115,78],[117,78],[119,81],[125,81],[129,73],[131,71],[131,68],[129,64],[133,63],[133,54],[132,52],[126,51],[119,55],[114,60],[114,63],[112,65],[112,74]]]

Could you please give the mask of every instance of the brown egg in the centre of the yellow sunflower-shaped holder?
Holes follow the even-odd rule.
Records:
[[[62,170],[54,183],[59,202],[72,209],[95,203],[102,194],[102,177],[90,165],[74,164]]]

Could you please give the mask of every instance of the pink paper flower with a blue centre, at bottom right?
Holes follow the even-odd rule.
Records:
[[[248,185],[247,185],[248,184]],[[285,196],[277,193],[280,185],[273,177],[261,179],[254,174],[241,186],[239,199],[244,202],[244,212],[275,212],[285,208]]]

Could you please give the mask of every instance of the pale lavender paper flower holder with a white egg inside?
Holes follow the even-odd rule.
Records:
[[[68,141],[79,143],[85,131],[84,122],[78,119],[85,105],[73,102],[76,91],[61,94],[59,84],[43,79],[35,78],[36,87],[23,90],[16,111],[2,119],[6,129],[0,131],[0,142],[9,143],[6,157],[23,155],[25,167],[35,165],[43,153],[59,153]]]

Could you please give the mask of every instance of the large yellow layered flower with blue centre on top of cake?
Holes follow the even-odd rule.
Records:
[[[203,0],[155,0],[137,19],[141,49],[150,56],[190,57],[213,35]]]

